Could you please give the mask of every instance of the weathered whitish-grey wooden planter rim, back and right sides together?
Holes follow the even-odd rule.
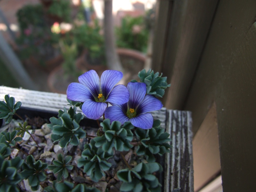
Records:
[[[68,107],[66,95],[59,93],[39,92],[0,86],[0,100],[9,94],[15,101],[21,101],[22,107],[58,112]],[[78,112],[82,111],[78,108]],[[162,108],[153,111],[154,119],[161,121],[161,127],[170,134],[171,153],[165,155],[164,191],[193,192],[193,156],[192,156],[192,119],[191,112],[168,110]],[[174,190],[175,191],[175,190]]]

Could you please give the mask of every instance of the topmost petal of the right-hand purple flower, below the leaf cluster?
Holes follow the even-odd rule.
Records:
[[[128,83],[127,89],[130,92],[130,100],[128,102],[129,108],[136,109],[147,92],[146,84],[145,83]]]

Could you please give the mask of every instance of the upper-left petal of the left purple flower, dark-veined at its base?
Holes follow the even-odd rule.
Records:
[[[94,70],[87,71],[78,77],[79,83],[86,86],[94,97],[98,97],[100,93],[100,77]]]

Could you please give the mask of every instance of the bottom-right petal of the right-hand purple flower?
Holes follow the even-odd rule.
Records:
[[[153,126],[153,116],[151,113],[144,113],[133,117],[130,121],[135,127],[140,127],[141,129],[150,129]]]

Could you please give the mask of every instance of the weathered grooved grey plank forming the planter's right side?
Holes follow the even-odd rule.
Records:
[[[172,139],[172,152],[165,155],[164,191],[172,192],[176,189],[180,192],[193,192],[191,112],[167,110],[166,120],[166,132]]]

